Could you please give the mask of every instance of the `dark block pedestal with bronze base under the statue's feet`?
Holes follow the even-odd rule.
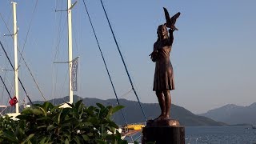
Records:
[[[149,120],[142,129],[142,144],[185,144],[185,128],[174,119]]]

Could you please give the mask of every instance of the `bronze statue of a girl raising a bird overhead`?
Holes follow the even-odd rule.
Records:
[[[174,90],[174,71],[170,63],[170,50],[174,42],[174,30],[178,30],[174,24],[179,17],[178,12],[170,18],[168,11],[164,8],[166,23],[158,26],[158,40],[154,42],[154,50],[150,54],[151,59],[155,62],[154,70],[154,87],[158,102],[161,108],[161,114],[155,120],[170,118],[171,97],[170,90]],[[168,35],[168,30],[169,34]]]

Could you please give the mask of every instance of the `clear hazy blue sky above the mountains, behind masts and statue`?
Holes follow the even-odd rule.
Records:
[[[0,40],[13,60],[12,39],[3,36],[9,34],[6,25],[12,31],[10,2],[0,1],[4,19],[0,19]],[[18,46],[21,51],[24,48],[24,58],[43,94],[47,99],[68,95],[67,66],[53,64],[67,61],[66,12],[54,12],[66,10],[66,1],[38,0],[37,5],[36,0],[16,2]],[[256,102],[256,1],[103,0],[103,3],[141,102],[157,102],[152,91],[154,62],[148,55],[157,39],[158,25],[165,22],[163,6],[171,15],[182,13],[176,22],[179,30],[174,32],[170,55],[176,85],[176,90],[171,91],[172,102],[196,114],[228,103],[248,106]],[[86,4],[118,97],[136,100],[133,92],[126,94],[131,90],[130,82],[100,1],[86,0]],[[82,0],[73,8],[73,40],[73,57],[80,57],[79,86],[74,94],[82,98],[115,98]],[[0,67],[10,69],[4,54],[0,56]],[[14,94],[13,72],[0,74]],[[42,100],[22,61],[19,77],[30,98]],[[20,97],[24,96],[20,87]],[[8,96],[2,87],[0,98],[0,105],[6,105]]]

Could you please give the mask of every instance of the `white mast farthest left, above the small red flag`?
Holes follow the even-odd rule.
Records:
[[[18,46],[17,46],[17,20],[16,20],[16,2],[12,2],[13,4],[13,13],[14,13],[14,92],[18,101]],[[15,104],[16,113],[18,113],[18,102]]]

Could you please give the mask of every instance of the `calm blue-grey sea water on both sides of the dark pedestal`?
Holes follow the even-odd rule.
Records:
[[[141,133],[132,139],[141,142]],[[186,144],[256,144],[256,129],[250,126],[187,126]]]

